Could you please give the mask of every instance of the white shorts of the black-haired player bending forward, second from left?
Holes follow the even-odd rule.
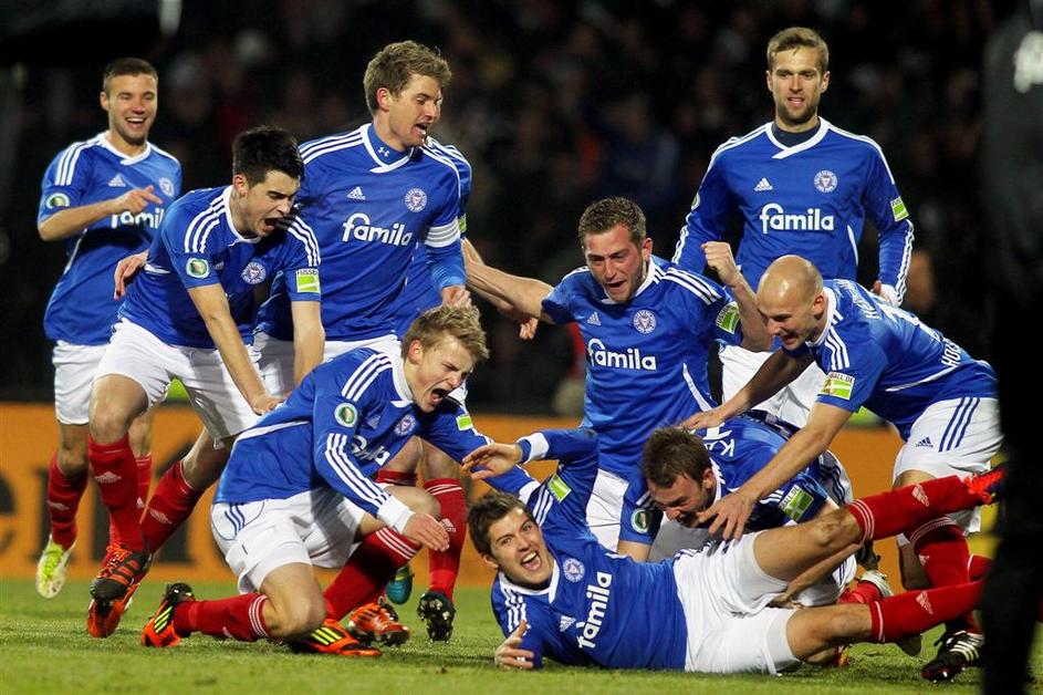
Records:
[[[108,374],[137,382],[145,391],[148,407],[166,397],[175,377],[181,380],[192,409],[215,442],[252,427],[259,417],[216,349],[168,345],[129,321],[116,324],[94,378]]]

